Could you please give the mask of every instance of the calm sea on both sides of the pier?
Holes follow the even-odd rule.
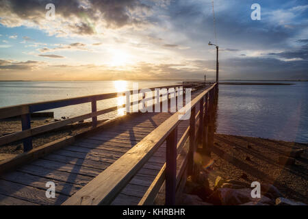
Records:
[[[140,81],[140,88],[178,82]],[[292,86],[220,85],[218,133],[308,142],[308,82]],[[0,82],[0,107],[131,90],[130,81]],[[116,105],[117,100],[99,101],[98,110]],[[55,118],[90,112],[90,103],[54,110]],[[100,116],[114,118],[118,112]]]

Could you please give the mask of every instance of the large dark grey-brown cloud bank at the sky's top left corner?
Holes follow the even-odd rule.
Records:
[[[51,35],[94,35],[96,28],[141,25],[151,7],[141,0],[53,0],[55,21],[47,21],[49,0],[0,0],[0,23],[6,27],[38,27]]]

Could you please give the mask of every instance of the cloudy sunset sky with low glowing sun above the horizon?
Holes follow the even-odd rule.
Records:
[[[220,79],[308,79],[307,1],[214,6]],[[211,0],[0,0],[0,80],[214,79],[209,40]]]

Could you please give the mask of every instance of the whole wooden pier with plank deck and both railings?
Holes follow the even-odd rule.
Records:
[[[25,151],[0,162],[0,205],[175,205],[186,177],[196,171],[197,147],[209,153],[213,145],[218,96],[214,82],[164,88],[175,88],[175,96],[185,99],[179,87],[192,89],[184,106],[191,112],[188,120],[169,108],[97,123],[97,116],[118,110],[97,111],[97,101],[118,93],[0,108],[0,119],[21,116],[23,127],[1,137],[0,145],[23,140]],[[175,96],[168,95],[168,102]],[[31,113],[81,103],[91,103],[92,113],[31,128]],[[87,118],[92,118],[90,131],[32,148],[32,136]],[[55,183],[55,198],[46,196],[49,181]]]

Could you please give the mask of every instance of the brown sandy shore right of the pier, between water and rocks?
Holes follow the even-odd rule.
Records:
[[[270,183],[287,198],[308,204],[307,151],[296,158],[295,165],[279,164],[279,155],[295,149],[307,149],[307,144],[216,134],[209,183],[213,187],[217,175],[246,183]],[[243,179],[243,175],[247,177]]]

